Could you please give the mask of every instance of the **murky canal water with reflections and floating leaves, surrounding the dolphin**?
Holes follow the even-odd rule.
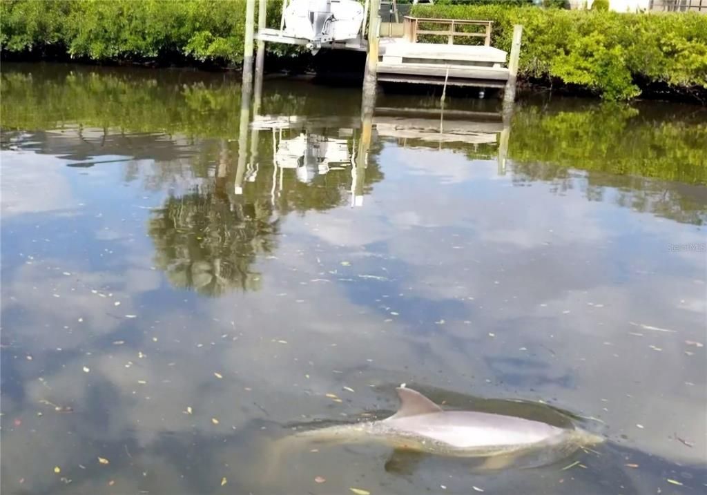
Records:
[[[452,95],[440,135],[436,98],[382,94],[362,160],[356,89],[267,81],[247,154],[234,76],[4,64],[1,91],[3,493],[707,486],[703,108],[532,98],[504,126]],[[266,476],[272,440],[403,382],[608,441]]]

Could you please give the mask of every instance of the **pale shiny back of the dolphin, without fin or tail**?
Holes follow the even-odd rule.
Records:
[[[486,412],[445,411],[391,418],[392,429],[429,438],[452,448],[530,445],[551,441],[565,430],[540,421]]]

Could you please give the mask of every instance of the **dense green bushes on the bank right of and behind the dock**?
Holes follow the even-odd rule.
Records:
[[[419,17],[489,19],[491,43],[510,51],[513,25],[523,25],[521,77],[589,88],[626,100],[660,84],[707,90],[707,16],[617,13],[498,5],[415,6]]]

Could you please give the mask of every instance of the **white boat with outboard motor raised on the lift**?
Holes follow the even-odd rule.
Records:
[[[362,25],[363,5],[355,0],[292,0],[285,8],[285,33],[310,40],[312,52],[357,38]]]

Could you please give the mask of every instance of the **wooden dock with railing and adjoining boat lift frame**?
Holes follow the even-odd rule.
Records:
[[[267,0],[258,1],[264,16]],[[504,98],[515,98],[521,26],[514,28],[509,54],[491,46],[491,21],[404,16],[402,23],[382,23],[380,0],[366,0],[364,11],[368,13],[368,20],[363,18],[356,37],[313,46],[312,40],[293,37],[284,30],[287,5],[288,0],[283,0],[279,29],[265,27],[264,19],[259,18],[259,28],[254,35],[259,47],[269,42],[307,46],[312,52],[320,49],[366,52],[366,74],[370,80],[475,86],[482,91],[498,88],[503,90]],[[397,11],[395,15],[397,18]],[[259,64],[262,62],[257,61],[256,65]]]

